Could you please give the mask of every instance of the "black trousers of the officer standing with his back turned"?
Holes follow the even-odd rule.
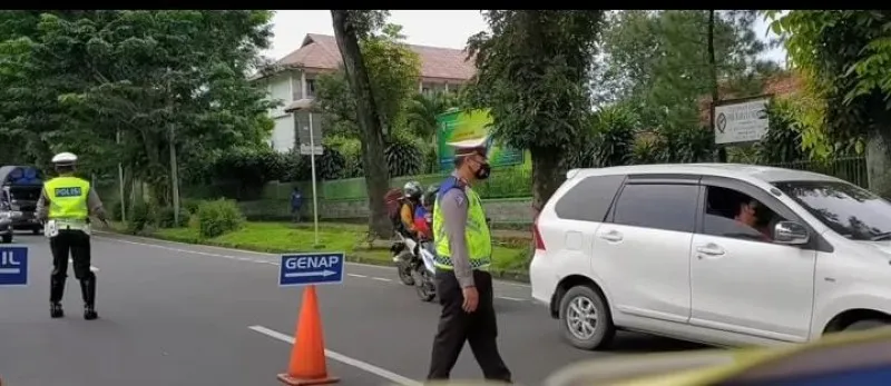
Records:
[[[84,304],[92,307],[96,301],[96,275],[90,270],[90,237],[80,230],[60,229],[58,236],[49,239],[49,247],[52,250],[49,301],[59,303],[65,295],[70,254],[75,277],[80,280]]]

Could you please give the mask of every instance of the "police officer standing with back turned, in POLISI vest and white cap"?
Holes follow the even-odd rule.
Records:
[[[68,255],[75,265],[75,277],[80,281],[84,297],[84,318],[92,320],[96,314],[96,274],[90,270],[89,217],[96,216],[108,225],[102,201],[90,187],[90,182],[75,177],[77,156],[60,152],[52,157],[59,177],[43,184],[37,202],[37,216],[45,224],[52,250],[52,275],[50,276],[50,316],[60,318],[65,279],[68,277]]]

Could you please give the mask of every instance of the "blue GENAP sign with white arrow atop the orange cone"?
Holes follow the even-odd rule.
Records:
[[[343,281],[344,254],[288,254],[282,255],[278,266],[280,286],[309,286]]]

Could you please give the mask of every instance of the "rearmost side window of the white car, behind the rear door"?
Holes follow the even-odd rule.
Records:
[[[603,222],[624,175],[586,177],[554,206],[557,217],[566,220]]]

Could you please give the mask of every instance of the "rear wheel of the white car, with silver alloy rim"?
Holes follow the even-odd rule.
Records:
[[[587,311],[582,311],[588,316],[578,315],[581,308],[587,308]],[[569,288],[560,299],[560,330],[570,345],[585,350],[605,348],[616,335],[606,299],[590,286]]]

